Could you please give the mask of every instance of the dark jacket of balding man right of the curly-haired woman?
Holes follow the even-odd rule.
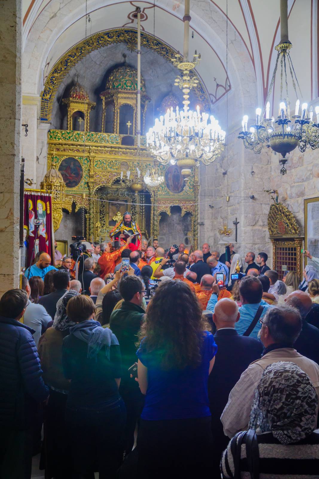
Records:
[[[208,394],[214,443],[221,454],[229,442],[223,433],[221,413],[227,404],[231,389],[243,371],[250,363],[261,357],[263,345],[254,338],[238,334],[235,329],[217,330],[214,340],[218,350],[208,379]]]

